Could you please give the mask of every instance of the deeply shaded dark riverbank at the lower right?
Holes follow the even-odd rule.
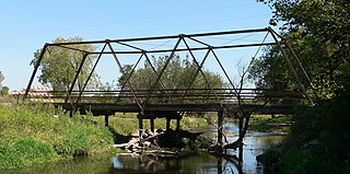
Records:
[[[277,173],[350,173],[349,96],[298,108],[287,140],[258,158]]]

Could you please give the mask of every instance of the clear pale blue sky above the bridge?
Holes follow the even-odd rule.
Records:
[[[0,8],[0,71],[11,91],[26,88],[34,53],[57,37],[95,40],[261,28],[272,15],[256,0],[9,0]]]

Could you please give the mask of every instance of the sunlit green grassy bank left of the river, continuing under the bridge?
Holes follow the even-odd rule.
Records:
[[[62,111],[54,117],[51,105],[5,103],[0,103],[0,169],[106,152],[114,143],[114,135],[104,126],[103,117],[75,115],[70,118]],[[189,128],[206,126],[207,121],[186,117],[182,124]],[[133,115],[110,117],[109,125],[119,135],[130,135],[138,129]],[[155,128],[164,127],[165,120],[155,120]]]

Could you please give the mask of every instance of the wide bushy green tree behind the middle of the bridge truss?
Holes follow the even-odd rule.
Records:
[[[124,90],[129,90],[126,79],[131,73],[129,78],[130,84],[133,90],[150,90],[155,79],[158,79],[156,73],[160,73],[161,69],[164,67],[167,56],[155,57],[152,56],[151,63],[145,61],[142,68],[136,69],[132,73],[132,65],[124,66],[125,74],[118,79],[118,86]],[[156,71],[156,73],[153,71]],[[163,86],[167,90],[173,89],[210,89],[208,86],[203,76],[198,73],[197,78],[195,72],[197,71],[197,66],[191,62],[188,57],[182,59],[179,56],[174,56],[170,63],[166,66],[164,73],[161,77],[160,83],[156,83],[153,89],[163,90]],[[213,89],[222,89],[225,86],[220,74],[203,70],[203,74],[208,80],[209,84]],[[208,93],[210,90],[207,91]],[[176,91],[173,92],[175,94]]]

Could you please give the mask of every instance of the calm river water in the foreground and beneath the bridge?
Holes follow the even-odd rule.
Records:
[[[210,134],[213,128],[209,129]],[[224,130],[230,132],[229,142],[234,141],[238,131],[235,124],[224,125]],[[243,173],[262,174],[264,166],[256,162],[256,156],[261,154],[268,147],[277,144],[283,140],[283,136],[264,132],[248,132],[244,138]],[[231,154],[238,151],[231,150]],[[199,152],[184,159],[159,159],[148,156],[130,155],[95,155],[90,158],[77,158],[57,163],[36,165],[16,170],[0,171],[0,173],[55,173],[55,174],[129,174],[129,173],[238,173],[234,163],[225,159],[218,159],[205,152]]]

